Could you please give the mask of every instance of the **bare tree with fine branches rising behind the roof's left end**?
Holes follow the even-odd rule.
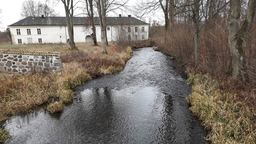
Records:
[[[59,14],[49,6],[49,0],[46,0],[45,3],[25,0],[22,3],[20,15],[21,17],[40,17],[41,15],[45,17],[55,17]]]

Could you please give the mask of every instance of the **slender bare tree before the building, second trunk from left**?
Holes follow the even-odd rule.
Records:
[[[88,17],[90,19],[89,25],[92,25],[92,45],[97,46],[97,39],[96,39],[96,28],[95,28],[95,22],[94,22],[94,12],[93,12],[93,0],[85,0],[86,3],[86,11],[88,14]]]

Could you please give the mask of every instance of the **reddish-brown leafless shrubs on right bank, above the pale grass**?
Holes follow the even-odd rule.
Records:
[[[255,106],[256,93],[256,22],[245,39],[245,58],[247,59],[249,83],[234,83],[231,78],[231,55],[228,46],[228,28],[223,22],[216,23],[211,28],[211,36],[206,36],[206,31],[200,32],[200,64],[194,72],[209,73],[214,79],[219,80],[222,89],[233,91],[239,95],[240,100],[245,101],[252,107]],[[164,43],[158,42],[164,53],[169,53],[175,58],[184,61],[187,67],[195,67],[193,35],[194,31],[190,24],[175,25],[172,33]],[[160,32],[161,33],[161,32]],[[248,101],[250,99],[250,101]]]

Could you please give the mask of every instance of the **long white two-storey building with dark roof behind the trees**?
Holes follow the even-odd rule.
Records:
[[[96,38],[100,42],[100,22],[95,17]],[[148,39],[149,24],[131,17],[107,17],[107,38],[113,42],[117,37],[117,30],[127,30],[135,39]],[[89,22],[88,17],[74,17],[74,41],[92,42],[92,29],[85,26]],[[27,17],[12,25],[9,25],[12,44],[31,43],[60,43],[69,39],[66,17]]]

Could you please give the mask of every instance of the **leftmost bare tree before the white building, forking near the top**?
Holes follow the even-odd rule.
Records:
[[[61,0],[64,4],[66,20],[67,20],[67,31],[69,35],[69,49],[76,49],[74,42],[74,27],[73,27],[73,15],[74,7],[73,0]]]

